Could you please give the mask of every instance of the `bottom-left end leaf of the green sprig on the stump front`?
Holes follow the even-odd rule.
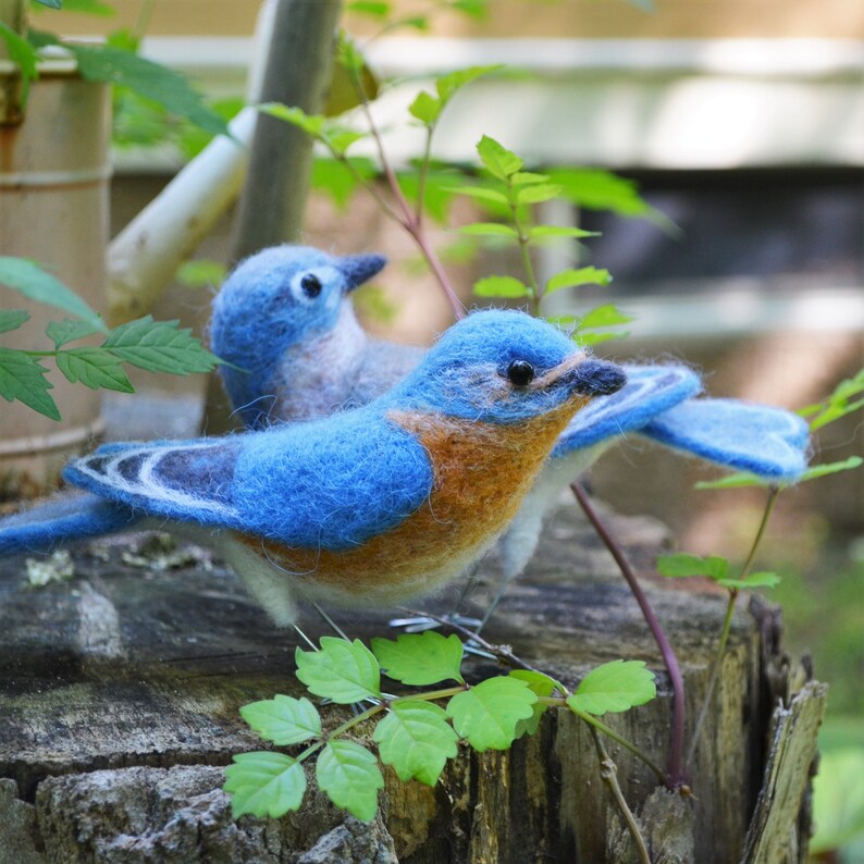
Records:
[[[303,765],[283,753],[240,753],[225,768],[223,789],[231,794],[234,818],[244,813],[277,819],[299,810],[306,793]]]

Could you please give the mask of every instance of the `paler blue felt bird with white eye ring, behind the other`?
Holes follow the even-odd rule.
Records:
[[[420,362],[421,349],[370,337],[354,314],[349,293],[384,263],[378,255],[338,258],[277,246],[229,275],[213,303],[211,347],[248,370],[220,370],[247,424],[262,428],[363,405]],[[567,484],[629,434],[778,483],[794,481],[806,467],[807,427],[795,415],[693,398],[700,379],[681,366],[624,368],[627,384],[563,430],[502,536],[505,585],[527,565],[543,516]]]

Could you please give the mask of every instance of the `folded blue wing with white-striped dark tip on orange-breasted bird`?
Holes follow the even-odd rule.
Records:
[[[180,445],[111,445],[65,477],[152,516],[330,550],[398,524],[433,482],[419,442],[366,409]]]

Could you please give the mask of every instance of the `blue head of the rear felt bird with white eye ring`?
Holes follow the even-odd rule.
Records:
[[[343,297],[385,263],[380,255],[340,258],[309,246],[274,246],[242,261],[214,298],[210,324],[213,351],[245,370],[220,370],[234,405],[260,395],[287,348],[331,330]]]

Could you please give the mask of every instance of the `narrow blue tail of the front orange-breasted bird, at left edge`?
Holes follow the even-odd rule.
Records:
[[[88,493],[63,493],[0,520],[0,555],[48,552],[55,545],[129,528],[136,521],[122,505]]]

